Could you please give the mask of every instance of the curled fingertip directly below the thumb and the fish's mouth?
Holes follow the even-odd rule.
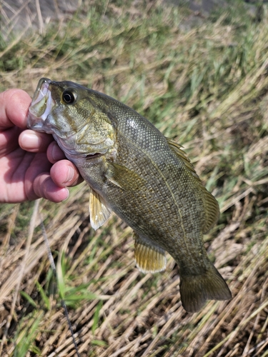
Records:
[[[31,153],[45,153],[53,136],[45,133],[39,133],[33,130],[24,130],[19,136],[19,146],[21,149]]]

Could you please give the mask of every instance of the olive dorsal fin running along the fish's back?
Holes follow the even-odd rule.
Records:
[[[197,173],[194,171],[194,166],[187,158],[187,154],[181,149],[181,146],[175,143],[175,141],[173,141],[172,139],[166,139],[170,149],[172,149],[172,151],[174,151],[174,153],[179,156],[179,159],[182,159],[185,166],[187,167],[187,169],[189,169],[194,178],[197,178],[202,192],[202,201],[205,213],[205,221],[204,225],[202,226],[202,233],[207,233],[209,229],[211,229],[219,219],[219,204],[217,203],[214,196],[212,196],[212,194],[207,191],[207,188],[202,185],[202,181],[200,180]]]

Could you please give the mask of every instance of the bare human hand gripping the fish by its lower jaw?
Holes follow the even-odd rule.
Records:
[[[0,202],[60,202],[69,196],[66,187],[81,181],[51,135],[25,130],[30,104],[20,89],[0,93]]]

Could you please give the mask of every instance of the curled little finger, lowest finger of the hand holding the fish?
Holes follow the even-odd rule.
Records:
[[[36,197],[43,197],[52,202],[61,202],[69,197],[67,188],[56,186],[49,173],[43,173],[34,180],[34,193]]]

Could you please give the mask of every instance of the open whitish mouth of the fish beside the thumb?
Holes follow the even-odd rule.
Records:
[[[51,97],[49,84],[51,84],[50,79],[41,78],[39,80],[33,100],[31,101],[31,106],[29,107],[27,119],[29,129],[48,132],[45,130],[44,124],[47,116],[49,116],[55,105],[55,101]]]

